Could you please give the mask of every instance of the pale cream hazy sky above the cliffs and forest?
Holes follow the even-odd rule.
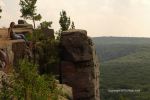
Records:
[[[20,19],[19,1],[0,0],[0,27]],[[60,11],[65,10],[76,28],[91,37],[150,37],[150,0],[37,0],[36,6],[41,21],[53,21],[55,31],[60,28]]]

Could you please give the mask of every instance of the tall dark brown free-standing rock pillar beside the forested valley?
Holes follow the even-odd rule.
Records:
[[[87,32],[63,32],[61,56],[61,81],[72,87],[74,100],[100,100],[99,62]]]

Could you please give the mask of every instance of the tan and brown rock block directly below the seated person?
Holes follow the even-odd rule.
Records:
[[[26,53],[26,43],[24,40],[0,40],[0,60],[6,62],[7,68],[6,72],[8,72],[11,66],[18,66],[18,62],[20,59],[25,58]],[[7,56],[7,57],[6,57]]]

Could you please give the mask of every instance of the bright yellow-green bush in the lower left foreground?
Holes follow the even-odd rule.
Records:
[[[19,75],[17,77],[17,86],[22,87],[23,95],[21,97],[32,98],[32,100],[47,100],[50,93],[52,93],[55,87],[49,86],[50,83],[54,83],[54,79],[49,83],[46,81],[45,76],[38,74],[37,66],[23,60],[20,63]],[[52,78],[52,77],[49,77]],[[51,88],[50,88],[51,87]]]

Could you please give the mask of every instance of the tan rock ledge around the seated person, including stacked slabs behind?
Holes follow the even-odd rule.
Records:
[[[26,23],[23,20],[18,21],[18,25],[15,26],[14,32],[22,34],[32,34],[33,27],[32,25]],[[25,56],[28,56],[27,46],[24,40],[11,40],[8,34],[8,28],[0,29],[0,62],[2,66],[6,66],[3,70],[8,70],[10,66],[17,66],[18,61]],[[8,57],[4,56],[7,55]],[[7,58],[7,61],[4,62],[4,59]],[[8,63],[9,62],[9,63]],[[6,65],[5,65],[6,63]]]

